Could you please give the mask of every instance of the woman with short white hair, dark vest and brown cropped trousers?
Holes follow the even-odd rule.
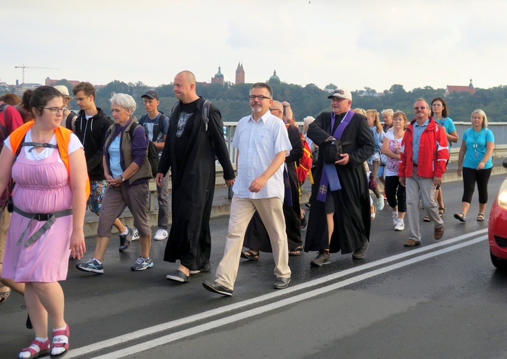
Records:
[[[136,108],[134,99],[124,93],[111,97],[114,124],[106,132],[104,145],[104,173],[108,188],[102,201],[102,213],[97,228],[97,247],[93,258],[77,264],[80,271],[104,273],[104,254],[111,239],[111,228],[115,219],[128,207],[140,234],[141,255],[131,266],[133,271],[142,271],[153,266],[150,258],[151,228],[148,219],[149,187],[152,177],[151,166],[146,157],[148,136],[133,117]],[[134,130],[131,127],[135,126]],[[120,243],[121,248],[130,246],[130,241]]]

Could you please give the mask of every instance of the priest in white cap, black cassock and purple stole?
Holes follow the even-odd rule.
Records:
[[[353,253],[362,259],[370,244],[370,193],[363,162],[374,151],[365,116],[351,110],[352,94],[338,88],[327,97],[332,112],[324,112],[308,128],[319,147],[312,185],[312,210],[305,251],[318,251],[312,266],[329,263],[329,253]]]

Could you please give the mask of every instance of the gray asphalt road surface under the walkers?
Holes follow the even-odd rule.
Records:
[[[188,284],[165,279],[178,267],[162,260],[166,241],[152,242],[153,269],[133,272],[139,242],[119,253],[113,235],[103,275],[69,261],[61,282],[71,328],[66,358],[505,358],[507,275],[489,261],[488,222],[472,220],[477,191],[470,220],[452,218],[463,191],[452,175],[451,168],[443,184],[442,240],[433,239],[421,210],[423,242],[406,249],[407,231],[392,230],[386,207],[372,223],[365,260],[335,253],[316,269],[309,266],[315,253],[291,257],[291,285],[281,291],[272,287],[271,253],[241,261],[231,298],[202,288],[222,258],[227,215],[210,223],[213,270]],[[504,178],[490,180],[487,214]],[[220,191],[226,197],[227,188],[216,193],[223,206],[229,200]],[[87,249],[90,258],[93,236]],[[32,340],[22,305],[13,293],[0,307],[0,358],[15,358]]]

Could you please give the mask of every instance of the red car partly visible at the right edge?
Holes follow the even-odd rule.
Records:
[[[502,164],[507,168],[507,157]],[[491,207],[488,240],[491,262],[497,269],[507,269],[507,178]]]

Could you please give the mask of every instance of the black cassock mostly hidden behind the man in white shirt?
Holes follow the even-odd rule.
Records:
[[[280,121],[282,120],[280,119]],[[296,174],[296,165],[298,164],[298,160],[303,157],[303,143],[301,142],[299,129],[296,126],[287,126],[287,135],[289,135],[289,141],[292,146],[289,155],[285,157],[292,206],[289,204],[289,193],[285,191],[285,198],[283,200],[283,215],[285,217],[285,232],[287,233],[289,251],[291,251],[303,245],[303,240],[301,240],[299,182],[298,175]],[[254,213],[254,217],[251,218],[250,223],[248,224],[243,245],[249,249],[256,249],[262,252],[273,251],[273,249],[271,249],[271,241],[269,241],[269,235],[267,234],[266,227],[262,223],[257,211]]]

